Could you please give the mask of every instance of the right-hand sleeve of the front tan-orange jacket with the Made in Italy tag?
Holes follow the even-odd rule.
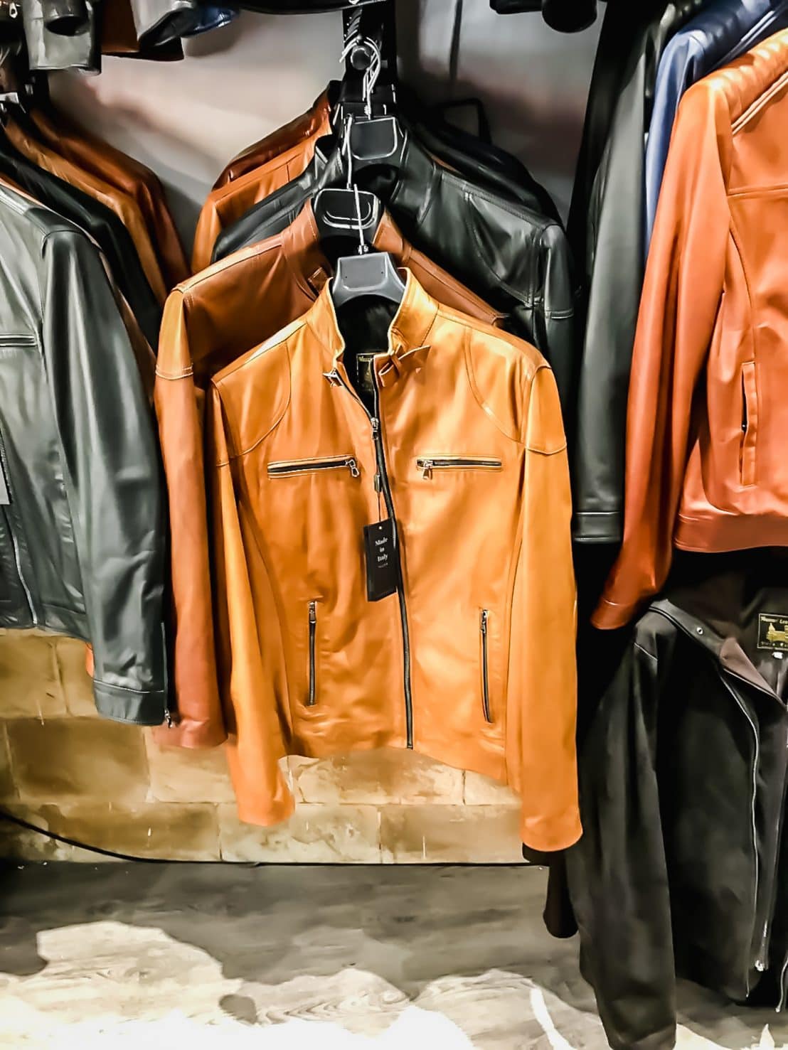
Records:
[[[509,779],[522,797],[521,837],[538,850],[580,836],[575,724],[576,591],[566,442],[553,373],[531,383],[525,422],[522,545],[514,581]]]

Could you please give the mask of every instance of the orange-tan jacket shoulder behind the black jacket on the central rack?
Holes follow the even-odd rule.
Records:
[[[306,171],[314,155],[315,143],[328,131],[329,111],[326,108],[323,123],[312,134],[297,139],[289,148],[284,148],[286,136],[283,134],[278,138],[283,148],[274,156],[208,194],[194,233],[191,252],[194,273],[210,265],[213,246],[222,230],[245,215],[258,201],[275,193],[291,178],[297,178]]]

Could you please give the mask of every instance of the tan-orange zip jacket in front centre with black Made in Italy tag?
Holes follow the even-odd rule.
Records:
[[[410,271],[396,313],[376,304],[350,324],[353,309],[346,345],[327,286],[211,384],[220,690],[241,818],[290,815],[283,755],[412,748],[510,783],[528,846],[569,846],[576,605],[553,373]],[[375,353],[364,397],[350,379],[361,351]],[[401,584],[369,601],[364,530],[387,518]]]

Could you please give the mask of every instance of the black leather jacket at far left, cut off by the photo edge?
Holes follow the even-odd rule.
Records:
[[[0,259],[0,627],[89,642],[99,712],[158,724],[166,532],[139,333],[89,237],[5,187]]]

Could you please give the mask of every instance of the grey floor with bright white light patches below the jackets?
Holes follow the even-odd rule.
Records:
[[[603,1050],[545,875],[517,867],[8,865],[0,1047]],[[788,1024],[686,986],[682,1048]]]

